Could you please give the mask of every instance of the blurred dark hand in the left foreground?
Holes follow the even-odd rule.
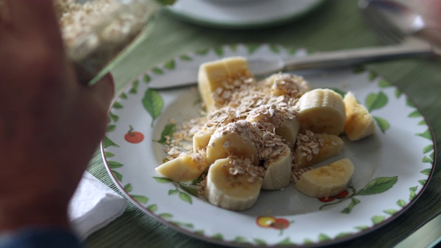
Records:
[[[51,0],[0,0],[0,8],[0,231],[68,227],[69,200],[105,132],[113,80],[76,81]]]

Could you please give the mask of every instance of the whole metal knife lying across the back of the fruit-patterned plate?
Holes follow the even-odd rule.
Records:
[[[345,68],[353,65],[390,61],[393,59],[431,57],[440,55],[438,48],[429,43],[409,39],[402,45],[387,45],[378,48],[360,48],[334,52],[317,52],[307,56],[287,56],[249,59],[248,65],[256,78],[275,72],[308,69]],[[181,87],[197,83],[198,67],[176,69],[152,80],[149,87],[156,90]]]

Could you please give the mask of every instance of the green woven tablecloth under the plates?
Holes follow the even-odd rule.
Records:
[[[294,1],[294,0],[293,0]],[[113,70],[116,91],[154,65],[199,48],[232,43],[279,43],[309,51],[340,50],[382,45],[363,22],[356,1],[326,1],[307,17],[276,28],[220,30],[180,21],[162,12],[150,37]],[[441,63],[411,59],[369,65],[406,92],[427,117],[440,152]],[[436,159],[438,165],[440,158]],[[116,189],[97,151],[89,172]],[[338,247],[393,247],[441,213],[441,174],[435,172],[420,198],[401,216],[383,227],[340,243]],[[220,247],[191,238],[159,223],[129,203],[125,213],[86,240],[88,247]]]

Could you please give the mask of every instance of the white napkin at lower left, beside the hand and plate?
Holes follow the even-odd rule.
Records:
[[[122,196],[89,172],[85,172],[70,200],[69,217],[72,229],[84,240],[121,216],[126,204]]]

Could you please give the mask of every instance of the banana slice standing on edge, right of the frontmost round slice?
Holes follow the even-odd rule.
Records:
[[[291,180],[291,149],[285,144],[281,152],[265,161],[262,189],[283,189]]]

